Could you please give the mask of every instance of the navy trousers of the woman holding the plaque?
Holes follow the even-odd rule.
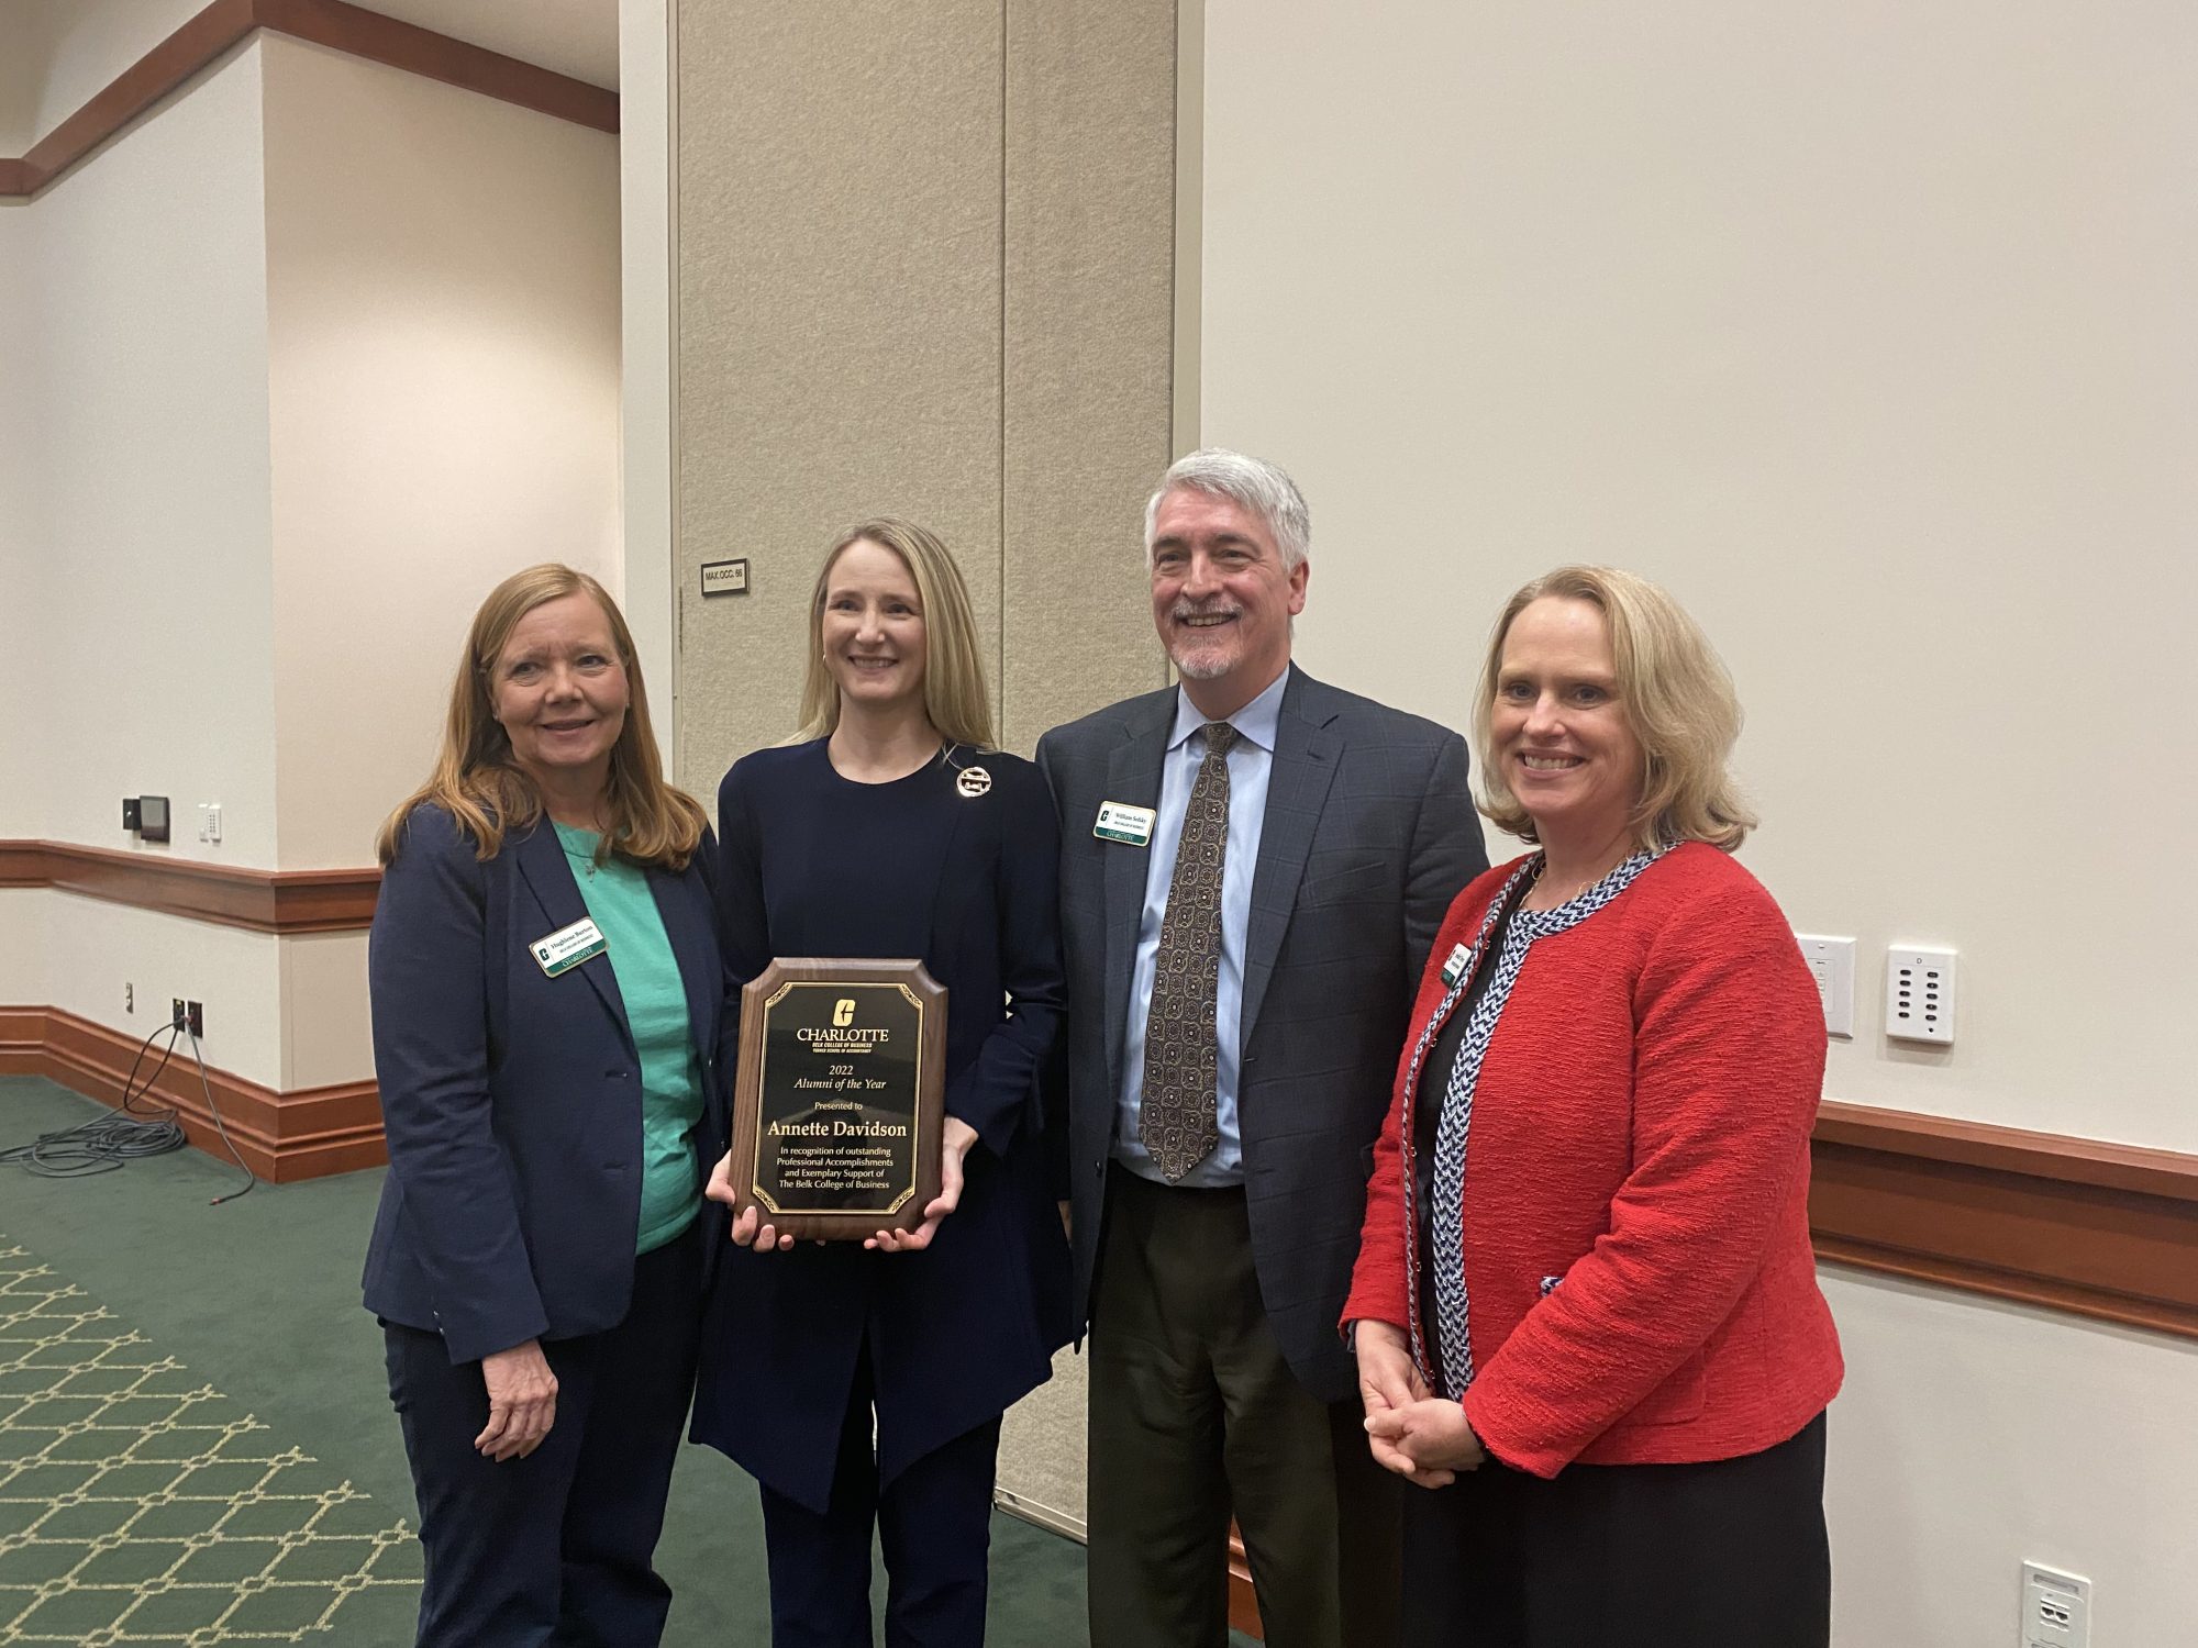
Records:
[[[763,1490],[771,1648],[870,1648],[870,1529],[886,1554],[886,1648],[980,1648],[1000,1422],[965,1430],[879,1488],[864,1347],[831,1507]]]

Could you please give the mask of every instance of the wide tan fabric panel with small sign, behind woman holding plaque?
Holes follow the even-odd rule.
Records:
[[[807,593],[868,514],[1000,624],[1000,0],[679,9],[681,780],[793,730]],[[747,595],[701,600],[747,556]],[[996,688],[998,690],[998,688]]]

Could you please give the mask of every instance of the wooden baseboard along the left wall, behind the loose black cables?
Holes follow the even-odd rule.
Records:
[[[75,1013],[51,1006],[0,1006],[0,1074],[46,1077],[86,1099],[119,1107],[136,1055],[134,1037]],[[145,1055],[138,1077],[143,1079],[158,1059],[160,1042]],[[297,1184],[389,1160],[382,1145],[380,1094],[371,1081],[275,1092],[207,1066],[200,1085],[189,1042],[176,1048],[134,1107],[174,1110],[185,1138],[209,1156],[229,1160],[213,1110],[207,1105],[209,1092],[237,1156],[273,1184]]]

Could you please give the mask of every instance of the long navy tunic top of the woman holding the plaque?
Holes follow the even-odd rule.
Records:
[[[983,795],[958,789],[983,767]],[[868,1338],[877,1463],[910,1461],[1042,1384],[1068,1343],[1068,1246],[1046,1187],[1037,1072],[1064,1009],[1057,828],[1031,762],[947,749],[859,784],[824,741],[763,749],[719,789],[730,989],[774,956],[919,956],[947,987],[947,1114],[978,1132],[923,1252],[859,1241],[723,1255],[695,1439],[824,1512]]]

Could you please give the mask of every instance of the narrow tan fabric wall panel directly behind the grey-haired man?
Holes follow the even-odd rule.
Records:
[[[1143,508],[1169,459],[1176,0],[1007,0],[1002,741],[1167,679]]]

